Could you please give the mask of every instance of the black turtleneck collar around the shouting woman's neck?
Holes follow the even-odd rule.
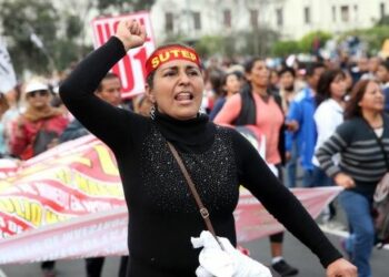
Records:
[[[154,122],[167,141],[186,153],[201,153],[215,140],[215,124],[209,122],[206,114],[198,114],[190,120],[177,120],[156,111]]]

